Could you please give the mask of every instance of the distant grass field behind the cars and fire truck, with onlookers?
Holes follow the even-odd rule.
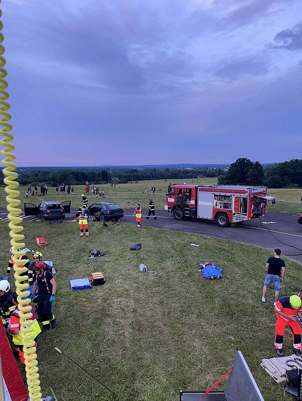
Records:
[[[183,182],[182,180],[156,180],[156,194],[153,196],[155,207],[156,209],[163,209],[165,205],[165,194],[167,192],[167,187],[169,182]],[[190,182],[187,180],[186,182]],[[198,178],[194,179],[194,183],[197,184],[216,184],[217,178]],[[94,195],[88,195],[88,205],[92,204],[93,202],[97,202],[102,200],[107,200],[109,202],[116,202],[124,209],[134,209],[136,204],[139,203],[144,209],[148,208],[149,200],[145,197],[144,189],[147,186],[149,195],[151,192],[151,187],[154,185],[154,181],[139,181],[138,183],[129,183],[129,184],[118,184],[115,188],[107,188],[107,185],[99,185],[100,190],[103,188],[105,191],[105,197],[100,198]],[[81,193],[84,191],[83,185],[75,185],[75,192],[74,195],[61,195],[57,196],[56,188],[50,187],[48,196],[30,196],[29,199],[26,199],[25,192],[27,187],[20,187],[21,192],[21,201],[22,201],[22,208],[24,202],[32,202],[38,205],[42,199],[49,199],[49,200],[60,200],[60,202],[64,200],[72,200],[72,208],[78,208],[81,206]],[[287,189],[287,188],[269,188],[269,194],[272,196],[278,197],[279,200],[276,200],[276,204],[271,206],[269,204],[268,210],[269,211],[279,211],[279,212],[287,212],[292,214],[300,214],[302,213],[302,202],[300,202],[300,198],[302,196],[302,189]],[[149,197],[149,196],[148,196]],[[281,201],[288,201],[288,202],[281,202]],[[297,203],[291,203],[297,202]],[[5,200],[5,192],[4,187],[0,187],[0,207],[6,206]]]

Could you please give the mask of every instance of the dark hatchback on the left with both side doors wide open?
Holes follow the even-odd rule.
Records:
[[[25,216],[37,216],[41,220],[65,220],[65,213],[70,213],[71,200],[66,202],[41,202],[40,205],[25,203]]]

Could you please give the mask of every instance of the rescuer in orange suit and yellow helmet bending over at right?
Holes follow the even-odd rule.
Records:
[[[292,334],[293,351],[301,356],[301,328],[296,321],[298,315],[302,318],[301,298],[297,295],[291,297],[281,297],[275,304],[276,312],[276,332],[275,349],[278,356],[284,356],[283,353],[283,334],[285,326],[289,326]]]

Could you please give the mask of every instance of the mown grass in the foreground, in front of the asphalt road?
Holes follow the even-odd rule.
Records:
[[[3,221],[0,229],[4,273],[9,229]],[[268,302],[261,303],[264,264],[270,256],[266,250],[127,224],[105,229],[90,223],[89,231],[89,238],[80,238],[77,223],[25,223],[26,246],[36,249],[35,235],[44,234],[50,243],[44,258],[58,268],[53,304],[58,327],[38,341],[44,394],[51,386],[62,401],[113,399],[49,340],[115,392],[123,388],[122,401],[174,401],[180,389],[206,389],[230,369],[237,349],[264,399],[291,400],[259,365],[262,358],[275,356],[271,289]],[[142,243],[141,251],[129,250],[135,242]],[[91,248],[106,255],[91,260]],[[224,278],[201,279],[200,261],[217,263]],[[140,263],[157,274],[139,272]],[[302,284],[300,265],[286,260],[286,267],[282,295]],[[107,280],[104,286],[71,290],[71,278],[100,270]],[[289,331],[284,338],[289,354]]]

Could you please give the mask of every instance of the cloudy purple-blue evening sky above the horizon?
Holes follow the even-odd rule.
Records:
[[[17,164],[301,158],[300,0],[5,0]]]

